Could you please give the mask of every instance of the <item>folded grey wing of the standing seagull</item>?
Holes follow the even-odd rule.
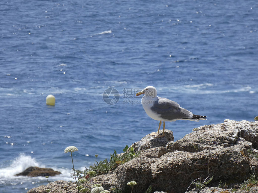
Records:
[[[193,113],[180,107],[175,101],[171,101],[167,98],[158,97],[151,110],[161,114],[161,117],[168,120],[181,119],[181,118],[193,118]]]

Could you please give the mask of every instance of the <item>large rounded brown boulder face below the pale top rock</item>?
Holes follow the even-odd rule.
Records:
[[[167,153],[152,164],[151,185],[154,190],[168,193],[185,192],[192,183],[191,178],[208,177],[208,164],[214,180],[243,180],[250,168],[247,157],[241,151],[245,151],[244,147],[220,148],[211,150],[211,154],[208,150]]]

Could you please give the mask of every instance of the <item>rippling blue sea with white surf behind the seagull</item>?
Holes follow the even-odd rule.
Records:
[[[149,85],[207,116],[167,122],[175,140],[258,116],[255,0],[5,0],[0,11],[0,192],[46,185],[15,176],[29,166],[72,180],[68,146],[84,169],[157,131],[135,96]]]

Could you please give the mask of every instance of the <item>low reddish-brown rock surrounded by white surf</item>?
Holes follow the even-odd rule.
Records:
[[[29,167],[23,172],[16,174],[16,176],[29,176],[29,177],[37,177],[37,176],[55,176],[61,174],[59,171],[54,171],[51,168],[39,168],[39,167]]]

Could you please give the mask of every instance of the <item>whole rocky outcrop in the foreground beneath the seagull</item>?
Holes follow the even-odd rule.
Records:
[[[131,192],[127,182],[136,181],[133,192],[144,193],[149,186],[153,192],[183,193],[186,191],[225,192],[239,189],[250,175],[258,173],[258,121],[233,121],[204,125],[194,128],[192,133],[173,142],[173,132],[165,130],[165,136],[154,138],[147,135],[132,146],[140,151],[137,158],[126,162],[115,171],[94,177],[104,189],[117,187],[122,192]],[[64,187],[64,182],[61,181]],[[58,188],[60,181],[54,182]],[[67,188],[60,191],[66,192]],[[75,187],[66,183],[66,187]],[[91,182],[85,183],[91,186]],[[205,188],[205,186],[207,186]],[[220,186],[220,188],[212,188]],[[209,188],[208,188],[209,187]],[[204,189],[202,189],[204,188]],[[222,189],[223,188],[223,189]],[[28,193],[44,192],[51,186],[40,186]],[[249,191],[257,192],[256,186]],[[76,192],[74,189],[70,192]]]

